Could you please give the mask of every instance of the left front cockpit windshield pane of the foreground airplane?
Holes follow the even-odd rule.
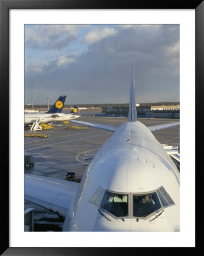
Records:
[[[101,207],[116,217],[128,216],[128,195],[106,191]]]

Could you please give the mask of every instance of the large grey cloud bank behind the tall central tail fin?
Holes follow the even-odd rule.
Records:
[[[94,27],[84,32],[85,40],[89,46],[84,53],[76,48],[74,53],[60,51],[39,67],[39,62],[30,63],[26,90],[41,86],[41,102],[48,92],[53,101],[56,94],[68,95],[68,104],[128,102],[134,60],[138,102],[179,100],[179,26]]]

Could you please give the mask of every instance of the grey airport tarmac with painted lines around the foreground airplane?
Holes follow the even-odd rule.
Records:
[[[91,117],[82,116],[77,120],[93,123],[103,123],[110,126],[120,126],[127,118],[118,117]],[[145,126],[160,125],[162,123],[177,122],[178,119],[138,119]],[[25,130],[25,134],[43,134],[45,137],[25,137],[24,154],[32,155],[34,166],[24,167],[25,174],[54,177],[65,180],[68,172],[75,172],[76,179],[84,174],[91,159],[101,148],[103,143],[113,135],[113,132],[87,127],[70,122],[53,123],[53,129],[31,132]],[[81,129],[67,129],[69,126],[81,127]],[[153,135],[161,144],[178,146],[180,152],[180,126],[154,131]],[[36,207],[25,202],[25,209],[34,207],[35,231],[60,231],[63,221],[53,213],[43,208]]]

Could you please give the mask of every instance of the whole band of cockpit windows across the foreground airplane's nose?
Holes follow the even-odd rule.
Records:
[[[115,218],[149,218],[160,210],[174,205],[172,198],[161,186],[146,193],[120,193],[105,191],[99,187],[89,203],[99,205],[100,210]],[[100,212],[100,211],[99,211]]]

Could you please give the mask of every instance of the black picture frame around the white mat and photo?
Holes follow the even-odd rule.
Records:
[[[195,10],[195,118],[196,129],[202,127],[199,109],[203,101],[203,74],[204,74],[204,1],[106,1],[106,0],[0,0],[1,17],[1,55],[0,55],[0,81],[1,81],[1,110],[3,110],[3,125],[1,125],[1,255],[118,255],[127,253],[147,253],[150,247],[10,247],[9,246],[9,10],[11,9],[194,9]],[[197,133],[199,131],[197,130]],[[198,139],[195,144],[198,145]],[[195,155],[195,163],[202,159],[201,153]],[[202,168],[201,168],[202,169]],[[202,172],[202,170],[200,170]],[[196,174],[197,187],[201,187],[201,172]],[[196,203],[196,200],[195,200]],[[190,218],[190,216],[189,216]],[[190,221],[190,220],[189,220]],[[188,224],[186,224],[188,225]],[[197,238],[198,249],[201,242]],[[167,249],[164,247],[163,249]],[[160,247],[160,250],[163,250]],[[169,253],[179,248],[169,247]],[[132,250],[132,251],[131,251]],[[193,251],[195,253],[195,251]]]

